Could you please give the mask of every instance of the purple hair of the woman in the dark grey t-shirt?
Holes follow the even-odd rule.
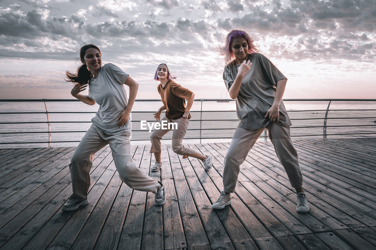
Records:
[[[220,46],[220,48],[219,48],[220,54],[222,56],[224,56],[224,62],[226,64],[231,62],[233,59],[235,59],[235,56],[231,51],[231,43],[232,43],[234,38],[238,38],[238,37],[242,37],[242,38],[247,40],[248,53],[249,54],[252,55],[252,54],[255,54],[259,51],[255,47],[255,45],[253,45],[253,38],[251,38],[247,34],[247,32],[245,32],[243,30],[231,30],[230,33],[228,33],[227,36],[226,36],[226,44],[224,45],[224,47]]]

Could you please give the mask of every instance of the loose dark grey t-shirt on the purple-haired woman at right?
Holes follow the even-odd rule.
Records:
[[[276,96],[276,83],[287,78],[262,54],[249,55],[247,60],[252,62],[252,66],[244,76],[239,94],[235,99],[237,115],[240,119],[238,127],[256,130],[269,125],[270,120],[264,116]],[[237,74],[238,66],[235,60],[224,67],[223,80],[227,90],[234,83]],[[291,126],[290,118],[282,101],[279,105],[279,122],[277,124],[282,127]]]

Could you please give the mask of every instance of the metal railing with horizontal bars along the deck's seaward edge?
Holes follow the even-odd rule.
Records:
[[[136,99],[136,102],[160,102],[159,99]],[[224,121],[238,121],[238,119],[202,119],[202,114],[210,113],[210,112],[236,112],[235,110],[202,110],[203,102],[232,102],[235,100],[232,99],[195,99],[195,102],[201,102],[201,108],[198,111],[191,111],[191,113],[198,113],[200,112],[200,119],[191,119],[191,122],[200,122],[200,128],[190,128],[188,130],[199,130],[200,136],[193,137],[193,138],[185,138],[185,139],[200,139],[200,143],[202,139],[231,139],[232,137],[202,137],[202,131],[206,130],[235,130],[236,127],[231,128],[202,128],[202,122],[206,121],[217,121],[217,122],[224,122]],[[362,102],[375,102],[376,99],[284,99],[284,101],[327,101],[328,105],[326,109],[309,109],[309,110],[288,110],[288,112],[319,112],[325,111],[325,115],[323,117],[313,117],[313,118],[291,118],[291,120],[323,120],[323,125],[307,125],[307,126],[291,126],[291,128],[323,128],[322,134],[303,134],[303,135],[292,135],[292,137],[309,137],[309,136],[322,136],[323,139],[327,139],[327,136],[335,136],[335,135],[364,135],[364,134],[376,134],[376,132],[367,132],[367,133],[334,133],[334,134],[327,134],[327,128],[334,128],[334,127],[375,127],[376,128],[376,114],[372,113],[372,116],[367,117],[329,117],[328,114],[330,111],[376,111],[376,109],[330,109],[330,105],[333,101],[362,101]],[[65,143],[65,142],[80,142],[80,140],[60,140],[60,141],[52,141],[52,133],[84,133],[86,130],[69,130],[69,131],[52,131],[51,124],[52,123],[90,123],[91,120],[85,121],[51,121],[49,114],[85,114],[85,113],[96,113],[96,111],[48,111],[47,102],[79,102],[77,99],[0,99],[0,103],[2,102],[43,102],[45,111],[32,111],[32,112],[0,112],[0,115],[6,114],[46,114],[46,121],[37,121],[37,122],[3,122],[3,119],[0,121],[0,125],[15,125],[21,123],[47,123],[48,131],[25,131],[25,132],[14,132],[14,131],[7,131],[7,132],[0,132],[0,135],[4,134],[42,134],[48,133],[49,140],[48,141],[32,141],[32,142],[0,142],[2,144],[29,144],[29,143],[48,143],[49,147],[51,147],[51,143]],[[154,111],[132,111],[132,113],[152,113]],[[327,125],[327,121],[329,119],[375,119],[374,124],[359,124],[359,125]],[[132,120],[132,122],[141,122],[141,120]],[[155,122],[155,120],[147,120],[147,122]],[[10,129],[10,127],[9,127]],[[132,130],[132,131],[145,131],[145,130]],[[264,135],[260,136],[267,140],[267,130],[264,131]],[[146,140],[146,139],[131,139],[131,140]],[[169,139],[166,139],[169,140]]]

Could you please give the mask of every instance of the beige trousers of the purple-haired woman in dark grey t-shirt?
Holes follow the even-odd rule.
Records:
[[[224,158],[223,190],[227,193],[235,192],[240,164],[246,160],[250,149],[265,128],[258,130],[246,130],[237,128]],[[299,167],[298,154],[290,137],[290,127],[282,127],[276,123],[267,126],[269,138],[273,143],[277,157],[285,168],[287,176],[293,188],[302,187],[302,172]]]

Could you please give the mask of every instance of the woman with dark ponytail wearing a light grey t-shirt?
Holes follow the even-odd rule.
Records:
[[[92,118],[92,125],[74,151],[69,165],[73,194],[62,206],[63,211],[73,211],[89,204],[90,169],[94,154],[108,145],[120,179],[130,188],[155,193],[155,205],[166,202],[165,188],[140,170],[130,154],[130,110],[136,99],[138,83],[117,66],[107,63],[102,66],[102,54],[95,45],[88,44],[80,50],[82,66],[77,74],[67,71],[67,80],[74,83],[72,96],[94,105],[99,110]],[[129,100],[124,84],[129,86]],[[89,95],[82,95],[89,87]]]

